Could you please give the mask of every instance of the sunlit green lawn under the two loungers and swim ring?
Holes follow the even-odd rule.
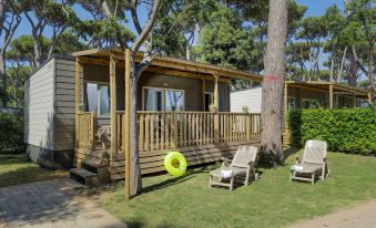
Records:
[[[376,157],[329,153],[332,177],[325,182],[289,183],[286,165],[260,169],[262,178],[228,191],[209,188],[205,168],[183,178],[143,178],[144,194],[124,201],[124,187],[99,190],[103,207],[130,227],[284,227],[376,198]]]

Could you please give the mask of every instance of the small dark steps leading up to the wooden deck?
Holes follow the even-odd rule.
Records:
[[[81,167],[70,169],[70,178],[94,187],[110,182],[109,165],[101,159],[85,159]]]

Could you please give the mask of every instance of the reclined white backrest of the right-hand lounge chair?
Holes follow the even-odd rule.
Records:
[[[327,144],[323,141],[307,141],[305,143],[302,163],[323,164],[326,157]]]

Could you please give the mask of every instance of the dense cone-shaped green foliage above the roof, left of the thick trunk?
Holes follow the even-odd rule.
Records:
[[[254,52],[254,42],[251,33],[243,27],[240,14],[224,6],[210,17],[201,32],[200,45],[196,53],[197,61],[235,68],[244,71],[260,71],[258,54]]]

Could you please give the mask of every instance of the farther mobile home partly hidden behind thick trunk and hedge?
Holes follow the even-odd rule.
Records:
[[[367,107],[375,93],[334,82],[284,82],[284,116],[288,110],[296,108],[343,108]],[[231,92],[231,112],[241,112],[244,106],[250,111],[262,107],[261,86]],[[289,144],[287,121],[284,118],[283,141]]]

